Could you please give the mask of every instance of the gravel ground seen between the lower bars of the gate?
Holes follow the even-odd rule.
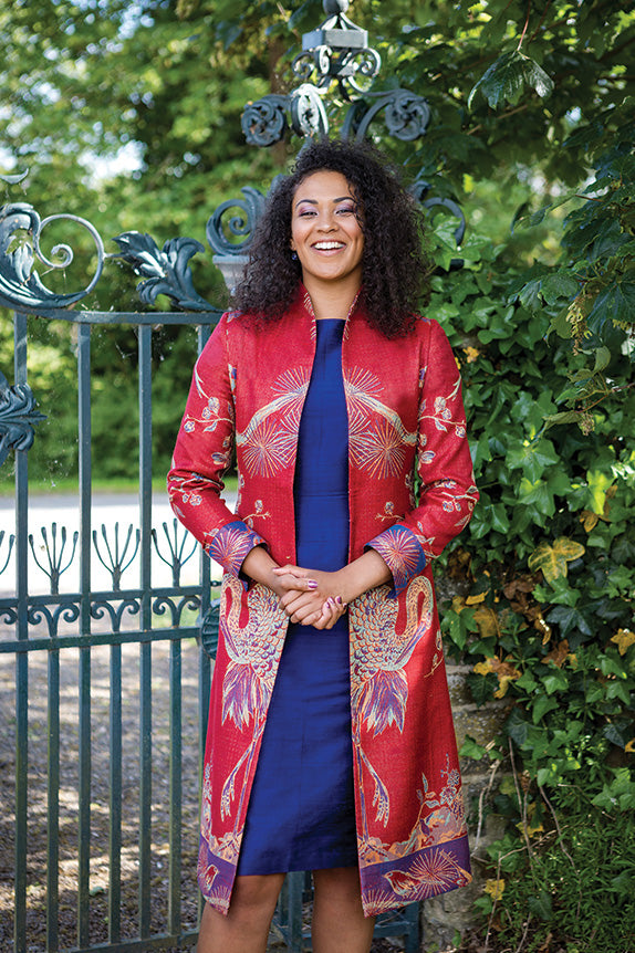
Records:
[[[0,638],[9,633],[0,630]],[[138,804],[139,804],[139,649],[123,647],[123,832],[122,940],[138,935]],[[169,646],[153,646],[153,792],[152,792],[152,932],[167,930],[168,905],[168,764],[169,764]],[[198,664],[194,640],[183,646],[183,876],[181,925],[196,930],[198,890]],[[79,651],[60,652],[60,837],[59,949],[77,943],[77,782]],[[29,811],[28,811],[28,953],[45,951],[46,876],[46,748],[48,653],[31,652],[29,660]],[[90,943],[108,939],[108,792],[110,792],[110,648],[91,651],[92,787]],[[10,953],[13,936],[15,660],[0,653],[0,951]],[[305,917],[310,908],[305,908]],[[164,947],[167,949],[167,947]],[[271,936],[271,951],[285,945]],[[389,940],[376,941],[374,953],[403,949]],[[190,944],[171,946],[171,953],[190,953]],[[169,953],[169,951],[168,951]]]

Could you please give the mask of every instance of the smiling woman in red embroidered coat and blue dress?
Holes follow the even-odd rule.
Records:
[[[396,172],[313,143],[197,362],[169,491],[225,569],[199,953],[264,951],[289,870],[313,870],[316,953],[365,953],[377,913],[469,881],[430,561],[477,492],[425,276]]]

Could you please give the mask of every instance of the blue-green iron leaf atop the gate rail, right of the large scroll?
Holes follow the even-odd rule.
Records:
[[[144,277],[137,285],[144,304],[154,304],[157,295],[165,294],[183,311],[216,311],[194,287],[188,261],[205,251],[196,239],[168,239],[163,249],[147,233],[123,232],[113,239],[121,252],[113,258],[123,258],[132,264],[135,274]]]

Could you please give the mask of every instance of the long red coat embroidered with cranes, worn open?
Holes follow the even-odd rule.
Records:
[[[227,911],[287,617],[240,566],[264,544],[295,563],[293,476],[315,350],[309,295],[279,322],[226,314],[194,371],[168,478],[177,516],[223,569],[205,758],[199,883]],[[348,609],[362,899],[367,915],[467,883],[469,853],[430,562],[478,494],[457,364],[426,318],[387,339],[347,318],[350,558],[374,547],[392,570]],[[222,474],[236,444],[237,512]],[[415,471],[420,479],[415,499]]]

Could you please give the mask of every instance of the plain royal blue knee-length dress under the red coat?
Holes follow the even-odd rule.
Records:
[[[348,559],[348,420],[344,322],[316,321],[315,360],[295,468],[298,565]],[[262,739],[238,873],[357,865],[348,621],[290,625]]]

